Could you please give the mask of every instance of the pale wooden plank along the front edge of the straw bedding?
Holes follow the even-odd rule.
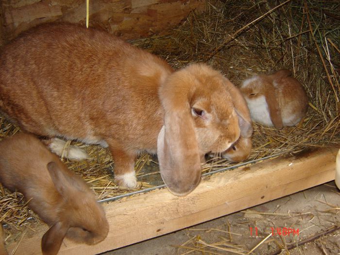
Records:
[[[108,237],[94,246],[64,241],[60,254],[97,254],[262,204],[334,180],[338,149],[279,157],[214,174],[186,197],[167,189],[104,204]],[[16,255],[40,254],[46,226],[20,242]],[[11,252],[17,244],[11,244]]]

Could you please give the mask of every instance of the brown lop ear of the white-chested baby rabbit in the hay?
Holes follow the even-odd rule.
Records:
[[[269,116],[272,123],[276,128],[283,128],[281,109],[275,92],[275,88],[272,83],[267,83],[265,86],[264,96],[269,109]]]

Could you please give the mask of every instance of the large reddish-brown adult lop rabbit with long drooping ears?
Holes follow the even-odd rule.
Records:
[[[136,187],[138,153],[157,152],[167,187],[186,195],[201,179],[202,155],[225,151],[251,128],[219,72],[204,64],[174,72],[104,31],[41,25],[0,59],[2,112],[37,135],[108,146],[122,186]]]

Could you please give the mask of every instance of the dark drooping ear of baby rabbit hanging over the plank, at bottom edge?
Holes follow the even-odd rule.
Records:
[[[58,254],[63,239],[68,231],[68,226],[57,222],[41,238],[41,251],[43,255]]]

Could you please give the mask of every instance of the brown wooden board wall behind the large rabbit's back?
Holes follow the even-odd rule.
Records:
[[[190,11],[202,11],[204,6],[205,0],[90,0],[90,26],[102,27],[124,39],[136,39],[162,34],[179,24]],[[0,37],[8,41],[44,22],[85,24],[86,3],[85,0],[0,0],[1,10]]]

